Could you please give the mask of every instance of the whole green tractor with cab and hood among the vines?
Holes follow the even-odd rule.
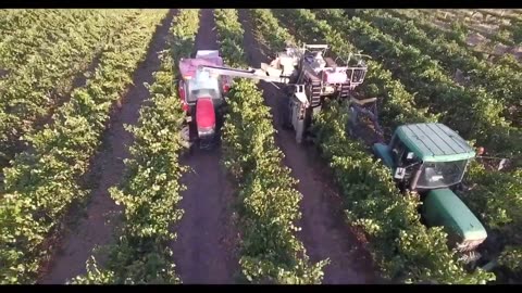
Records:
[[[472,251],[487,238],[480,220],[452,191],[475,157],[457,132],[437,123],[403,125],[389,144],[375,143],[373,150],[402,190],[419,192],[423,220],[430,227],[444,227],[458,251]]]

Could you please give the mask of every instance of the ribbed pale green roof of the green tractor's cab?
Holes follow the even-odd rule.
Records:
[[[402,125],[396,133],[424,162],[452,162],[475,156],[468,142],[444,124]]]

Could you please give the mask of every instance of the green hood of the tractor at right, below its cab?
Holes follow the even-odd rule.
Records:
[[[445,226],[458,233],[463,241],[487,238],[484,226],[451,190],[431,190],[424,205],[425,217],[431,226]]]

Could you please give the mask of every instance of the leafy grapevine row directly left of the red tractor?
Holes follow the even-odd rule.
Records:
[[[199,10],[182,10],[171,27],[171,50],[160,55],[161,68],[149,86],[151,105],[140,110],[137,127],[127,127],[135,137],[132,158],[125,162],[121,187],[111,196],[125,207],[119,242],[110,247],[107,269],[98,269],[92,257],[86,276],[73,283],[181,283],[172,262],[170,226],[183,216],[178,208],[181,176],[187,170],[178,162],[183,146],[179,130],[184,120],[177,91],[172,86],[177,67],[173,56],[188,54],[199,27]]]

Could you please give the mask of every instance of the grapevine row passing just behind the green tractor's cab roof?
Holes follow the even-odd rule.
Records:
[[[347,36],[353,44],[371,52],[410,91],[419,92],[419,104],[443,113],[442,123],[497,153],[520,154],[521,129],[510,126],[501,117],[501,101],[493,98],[484,87],[457,85],[438,62],[359,17],[347,20],[338,10],[322,10],[318,15],[339,30],[349,33]]]

